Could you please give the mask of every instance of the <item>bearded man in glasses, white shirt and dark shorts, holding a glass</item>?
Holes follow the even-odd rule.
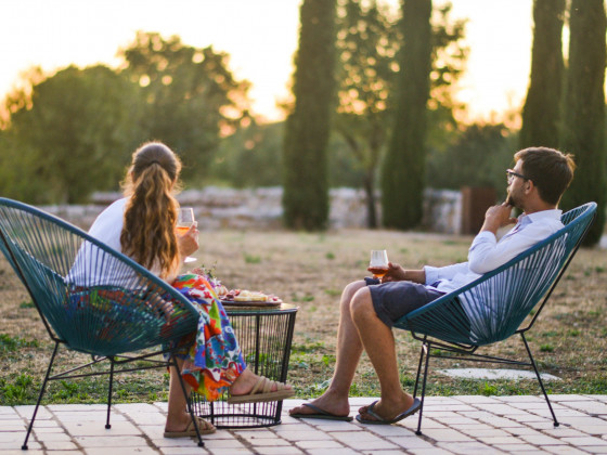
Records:
[[[473,240],[468,261],[443,268],[404,270],[389,263],[379,283],[375,278],[350,283],[340,301],[335,373],[328,389],[311,403],[290,411],[298,418],[351,420],[348,393],[364,349],[375,368],[380,400],[359,410],[363,424],[393,424],[419,410],[419,400],[401,389],[391,327],[409,312],[504,264],[563,227],[558,203],[573,178],[571,155],[531,147],[515,154],[508,169],[506,202],[490,207]],[[522,210],[511,218],[513,207]],[[516,222],[499,242],[498,230]]]

